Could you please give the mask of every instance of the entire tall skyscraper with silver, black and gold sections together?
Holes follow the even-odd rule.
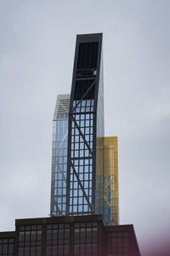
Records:
[[[118,224],[117,140],[104,130],[102,33],[78,35],[71,96],[58,96],[54,111],[51,215]]]

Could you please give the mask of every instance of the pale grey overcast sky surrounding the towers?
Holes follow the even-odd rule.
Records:
[[[48,216],[56,96],[71,90],[76,35],[103,32],[121,224],[143,253],[170,232],[169,24],[168,0],[0,0],[1,231]]]

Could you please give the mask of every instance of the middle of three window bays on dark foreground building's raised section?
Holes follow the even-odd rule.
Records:
[[[68,256],[70,241],[69,224],[48,224],[47,256]]]

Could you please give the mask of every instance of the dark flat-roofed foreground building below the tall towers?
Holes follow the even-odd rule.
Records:
[[[133,225],[105,226],[101,215],[16,219],[15,225],[15,232],[0,233],[1,256],[140,255]]]

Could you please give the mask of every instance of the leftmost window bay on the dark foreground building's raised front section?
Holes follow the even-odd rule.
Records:
[[[42,225],[26,225],[19,228],[19,256],[41,256]]]

